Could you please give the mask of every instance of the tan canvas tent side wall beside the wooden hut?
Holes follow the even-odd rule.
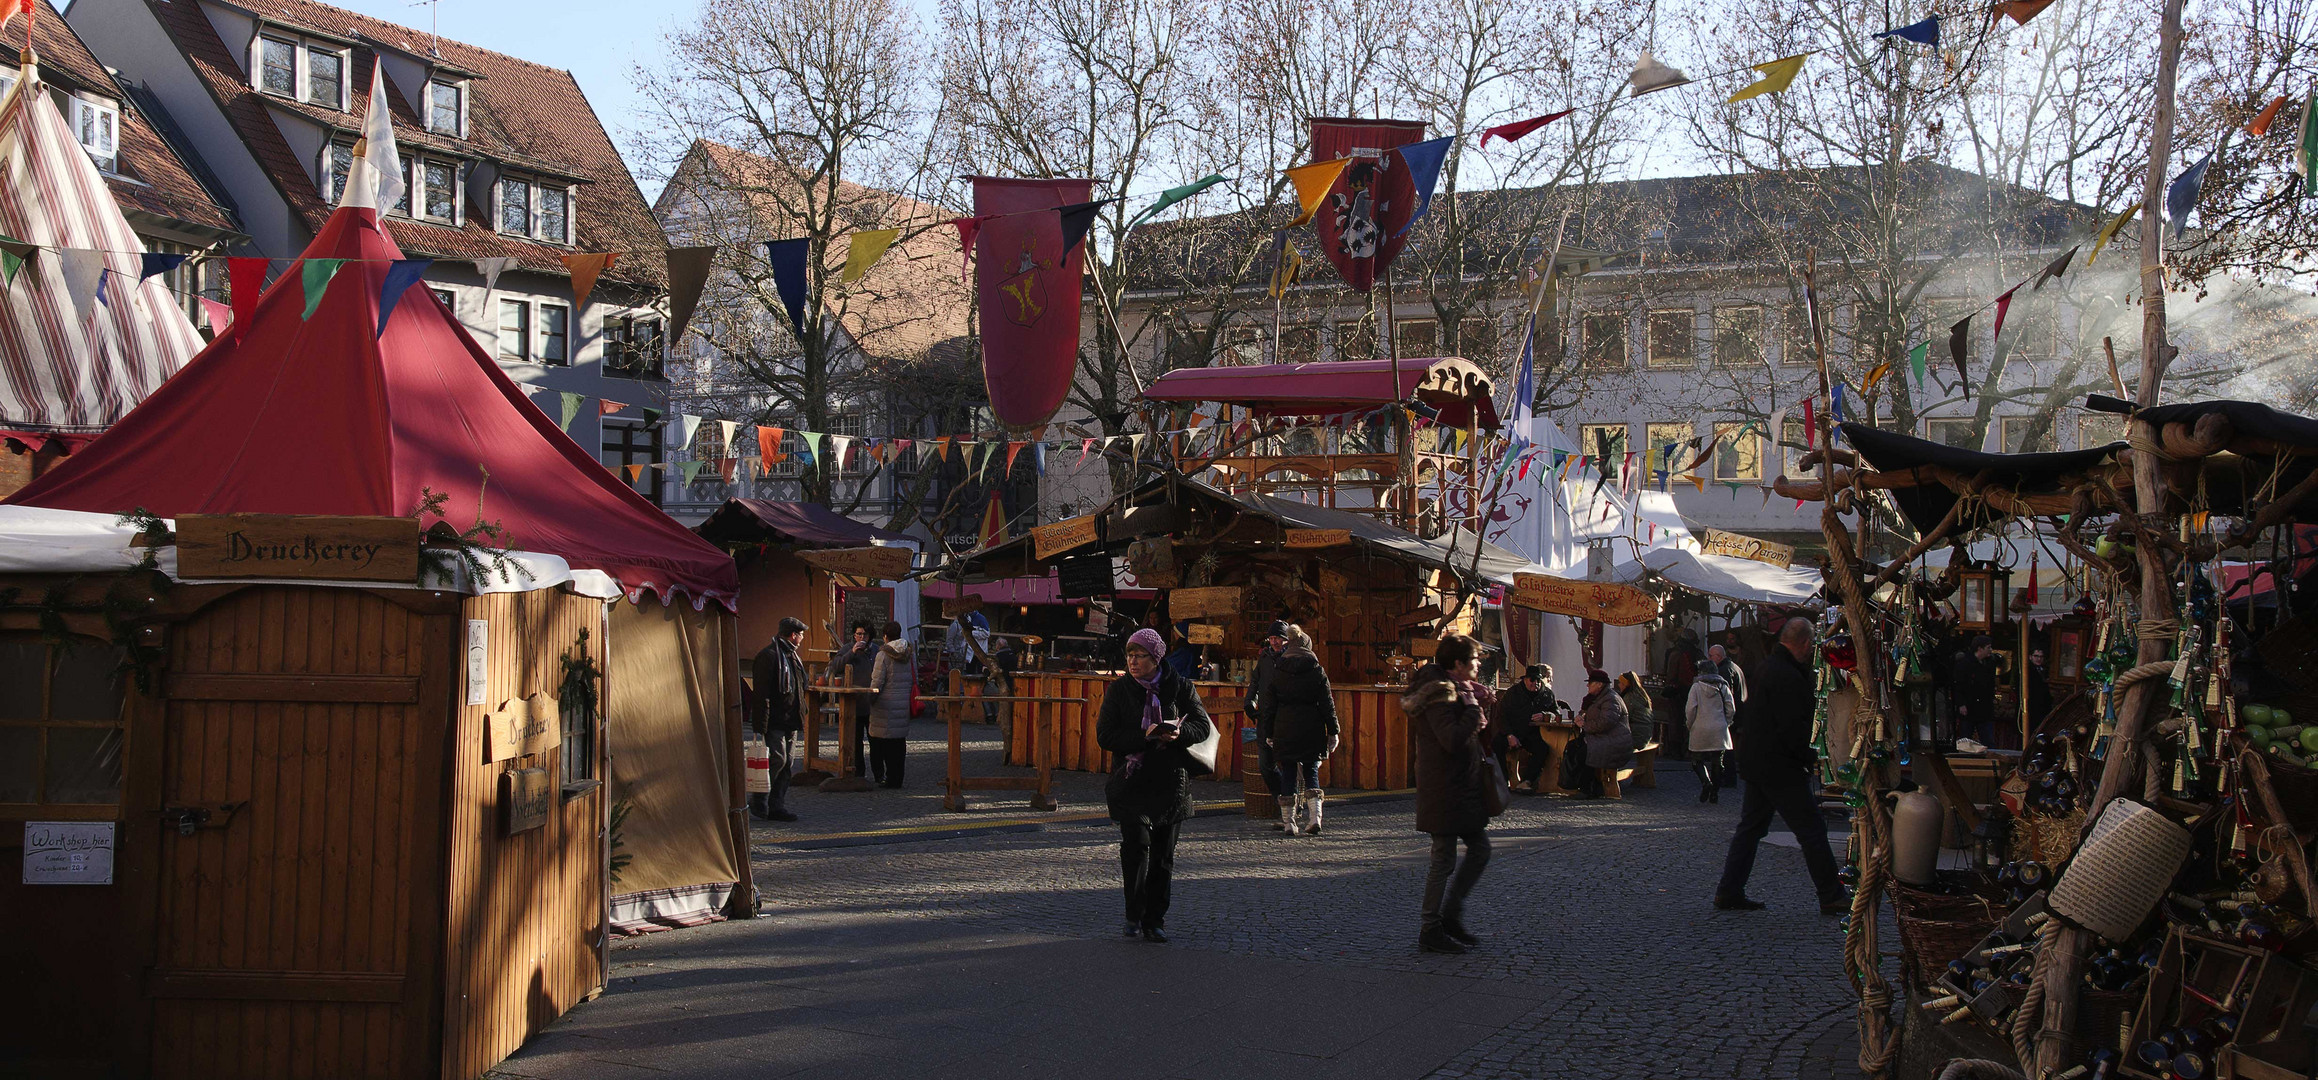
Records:
[[[739,881],[730,776],[732,714],[723,700],[723,612],[612,605],[605,730],[612,807],[628,855],[614,895]],[[712,892],[705,892],[712,895]],[[665,915],[663,906],[663,915]]]

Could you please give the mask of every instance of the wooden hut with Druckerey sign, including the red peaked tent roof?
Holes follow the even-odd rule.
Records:
[[[382,297],[376,211],[308,255],[0,505],[0,1071],[468,1080],[603,987],[612,605],[732,563]]]

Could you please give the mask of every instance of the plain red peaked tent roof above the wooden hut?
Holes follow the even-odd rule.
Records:
[[[313,318],[306,260],[348,260]],[[176,515],[410,517],[445,494],[510,549],[603,570],[630,593],[732,603],[732,559],[605,470],[413,283],[376,334],[401,250],[378,211],[338,209],[257,301],[111,431],[7,503]]]

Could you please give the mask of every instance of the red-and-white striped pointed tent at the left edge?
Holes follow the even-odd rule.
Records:
[[[37,248],[0,287],[0,433],[100,431],[202,350],[104,176],[25,63],[0,97],[0,234]]]

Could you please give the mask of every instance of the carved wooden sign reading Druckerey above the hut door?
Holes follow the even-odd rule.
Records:
[[[294,577],[304,582],[417,582],[415,517],[183,515],[181,577]]]

